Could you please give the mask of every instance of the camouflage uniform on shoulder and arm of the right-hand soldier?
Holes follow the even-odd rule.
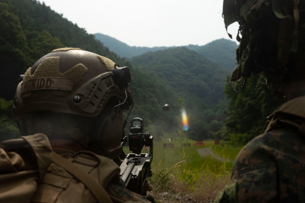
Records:
[[[305,96],[271,115],[266,133],[237,156],[215,202],[305,202]]]

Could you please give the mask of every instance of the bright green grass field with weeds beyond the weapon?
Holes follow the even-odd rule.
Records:
[[[183,171],[179,162],[186,147],[181,149],[178,139],[170,142],[166,142],[166,138],[161,142],[154,140],[153,175],[148,180],[154,187],[156,200],[170,203],[187,197],[195,202],[213,201],[218,191],[228,183],[234,159],[242,147],[227,146],[223,141],[219,145],[214,141],[204,141],[203,146],[194,146],[196,141],[188,140],[190,146],[184,163],[187,169]],[[167,143],[173,144],[174,148],[163,147]],[[124,152],[131,153],[128,147],[124,147]],[[142,153],[146,153],[145,150]]]

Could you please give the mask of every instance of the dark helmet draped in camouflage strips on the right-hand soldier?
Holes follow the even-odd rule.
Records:
[[[231,81],[243,77],[244,86],[251,73],[262,74],[276,93],[294,81],[305,67],[304,11],[299,0],[224,0],[226,29],[236,21],[240,25]]]

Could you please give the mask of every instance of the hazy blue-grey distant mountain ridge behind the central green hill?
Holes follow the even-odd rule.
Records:
[[[142,55],[149,51],[159,51],[175,47],[131,47],[124,42],[102,33],[95,33],[94,36],[97,40],[101,41],[104,46],[108,47],[110,51],[113,51],[120,57],[127,59],[131,59],[132,57]],[[190,44],[184,47],[196,51],[210,61],[221,65],[229,71],[232,71],[236,66],[235,51],[238,46],[231,40],[219,39],[214,40],[204,46]]]

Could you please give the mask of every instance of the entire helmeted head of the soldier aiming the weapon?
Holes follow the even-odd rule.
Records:
[[[133,104],[129,68],[78,48],[60,48],[28,68],[18,84],[13,117],[21,134],[74,138],[86,149],[120,155],[122,113]]]

